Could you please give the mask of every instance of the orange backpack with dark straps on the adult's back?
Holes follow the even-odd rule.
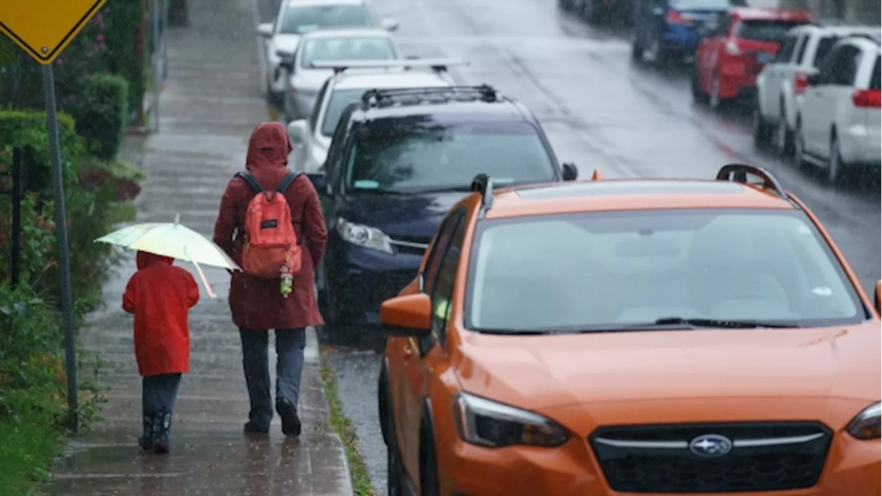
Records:
[[[274,192],[267,192],[249,172],[236,174],[255,192],[245,212],[242,252],[245,274],[276,279],[282,274],[282,267],[288,267],[290,274],[300,272],[303,263],[301,248],[291,223],[291,207],[285,199],[285,191],[301,174],[288,173]]]

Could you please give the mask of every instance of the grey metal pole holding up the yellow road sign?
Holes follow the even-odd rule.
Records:
[[[52,65],[43,65],[43,95],[46,103],[46,131],[52,159],[52,192],[55,201],[58,272],[61,273],[61,312],[64,330],[64,367],[67,370],[67,407],[71,415],[71,432],[79,432],[77,413],[77,336],[73,328],[73,297],[71,295],[71,261],[68,258],[67,214],[64,211],[64,177],[61,170],[61,146],[58,143],[55,76]]]

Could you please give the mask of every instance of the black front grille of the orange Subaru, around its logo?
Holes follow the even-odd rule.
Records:
[[[699,456],[691,440],[732,441],[725,455]],[[818,484],[832,432],[814,422],[601,427],[589,437],[618,492],[759,492]]]

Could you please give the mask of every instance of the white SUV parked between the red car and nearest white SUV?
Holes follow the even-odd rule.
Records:
[[[793,130],[806,81],[818,72],[836,41],[850,36],[878,36],[874,26],[797,26],[781,42],[774,61],[757,76],[753,137],[759,147],[771,144],[780,154],[793,153]]]

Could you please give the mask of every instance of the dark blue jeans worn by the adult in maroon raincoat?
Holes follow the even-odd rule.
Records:
[[[242,337],[242,366],[251,410],[252,424],[268,429],[273,420],[273,397],[270,395],[269,331],[239,328]],[[300,376],[303,372],[303,348],[306,329],[276,329],[276,401],[288,400],[297,406],[300,399]]]

